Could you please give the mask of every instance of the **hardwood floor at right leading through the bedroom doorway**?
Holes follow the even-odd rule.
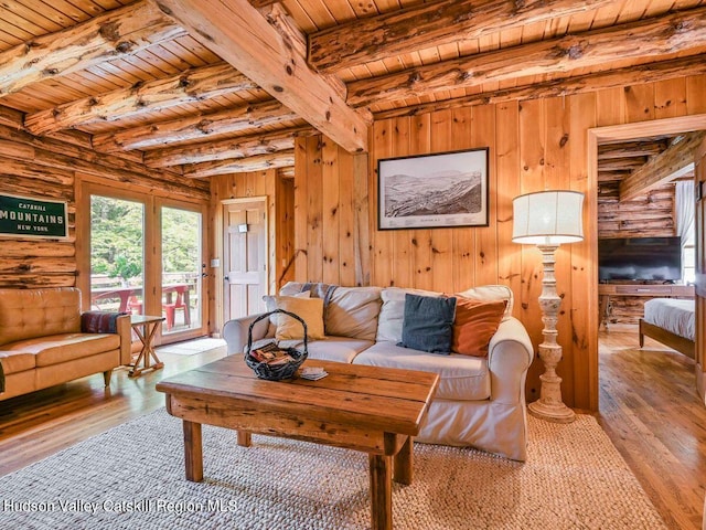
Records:
[[[602,331],[598,418],[668,528],[702,528],[706,407],[694,361],[635,331]]]

